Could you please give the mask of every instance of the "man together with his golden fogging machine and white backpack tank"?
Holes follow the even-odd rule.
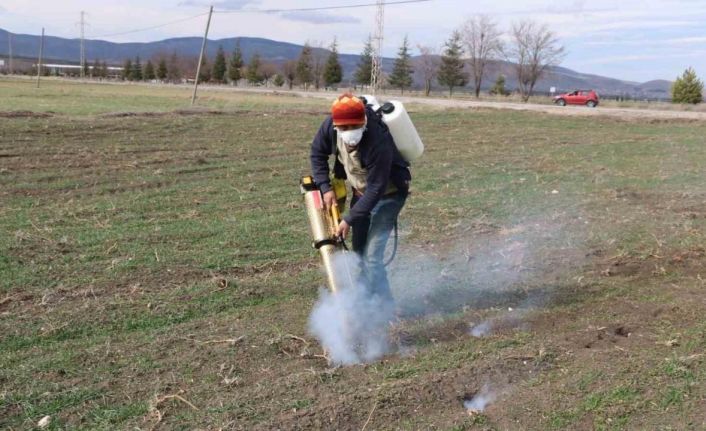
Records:
[[[336,293],[354,280],[353,288],[391,309],[385,248],[409,194],[408,160],[418,157],[423,145],[401,104],[376,108],[350,93],[334,101],[311,145],[312,176],[302,180],[302,191],[330,290]],[[348,211],[343,208],[346,183]],[[333,256],[344,249],[351,231],[350,249],[359,265],[337,269]]]

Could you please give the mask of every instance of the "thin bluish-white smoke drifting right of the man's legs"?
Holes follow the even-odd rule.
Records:
[[[515,311],[501,319],[510,322],[491,320],[471,331],[483,336],[498,326],[516,325],[515,320],[546,305],[559,286],[555,281],[586,260],[583,221],[566,217],[507,227],[479,225],[480,233],[463,233],[439,248],[408,245],[390,271],[398,315],[419,318],[512,307]]]

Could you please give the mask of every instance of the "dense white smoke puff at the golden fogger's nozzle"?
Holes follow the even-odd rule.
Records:
[[[359,266],[360,258],[355,253],[334,257],[334,270],[346,275],[342,286],[335,294],[320,289],[309,317],[309,331],[336,365],[374,361],[390,351],[388,330],[394,318],[394,304],[371,295],[364,284],[356,281]]]

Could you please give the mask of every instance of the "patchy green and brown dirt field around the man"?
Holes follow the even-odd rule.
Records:
[[[328,101],[0,89],[2,429],[706,428],[704,122],[413,105],[397,348],[330,368]]]

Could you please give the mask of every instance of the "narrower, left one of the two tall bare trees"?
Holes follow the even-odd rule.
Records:
[[[463,23],[461,34],[468,53],[468,65],[473,75],[476,97],[478,97],[485,66],[502,53],[502,33],[490,17],[476,15]]]

